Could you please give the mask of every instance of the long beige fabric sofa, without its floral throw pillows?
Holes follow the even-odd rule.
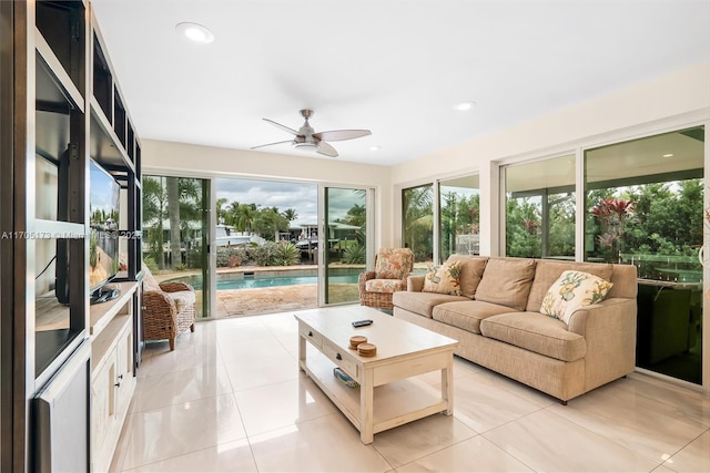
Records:
[[[635,369],[637,271],[632,265],[486,258],[460,261],[460,296],[423,292],[409,276],[393,296],[394,316],[459,341],[456,354],[546,392],[564,404]],[[576,310],[569,326],[540,313],[562,271],[613,284],[606,298]]]

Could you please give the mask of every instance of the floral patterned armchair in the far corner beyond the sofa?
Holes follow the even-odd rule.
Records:
[[[392,309],[392,294],[407,289],[407,276],[413,268],[414,254],[409,248],[381,248],[375,270],[359,275],[361,306]]]

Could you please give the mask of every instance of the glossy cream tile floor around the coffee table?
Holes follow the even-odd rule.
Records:
[[[438,373],[423,377],[437,385]],[[710,397],[633,373],[562,407],[462,359],[455,413],[371,445],[297,368],[293,312],[150,343],[116,472],[708,472]]]

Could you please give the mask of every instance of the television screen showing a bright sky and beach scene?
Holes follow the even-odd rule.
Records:
[[[89,285],[93,292],[119,271],[119,183],[91,161],[89,175]]]

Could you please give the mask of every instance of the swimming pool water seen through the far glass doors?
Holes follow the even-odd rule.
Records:
[[[357,277],[363,269],[347,268],[336,269],[328,275],[329,284],[357,284]],[[182,281],[191,285],[195,290],[202,290],[202,275],[185,276],[171,279],[171,281]],[[233,273],[217,275],[216,289],[256,289],[277,286],[295,286],[304,284],[317,284],[318,277],[315,271],[266,271],[258,273]]]

